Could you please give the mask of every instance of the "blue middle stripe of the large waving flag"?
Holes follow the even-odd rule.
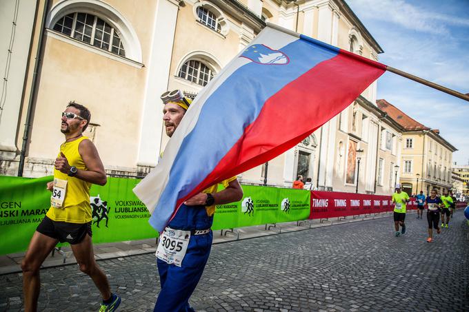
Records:
[[[280,50],[290,58],[290,63],[243,65],[203,103],[197,124],[183,139],[174,159],[168,184],[149,220],[152,227],[163,229],[177,200],[210,174],[244,129],[259,116],[268,98],[312,67],[337,55],[330,48],[301,39]],[[288,110],[279,114],[288,114]]]

